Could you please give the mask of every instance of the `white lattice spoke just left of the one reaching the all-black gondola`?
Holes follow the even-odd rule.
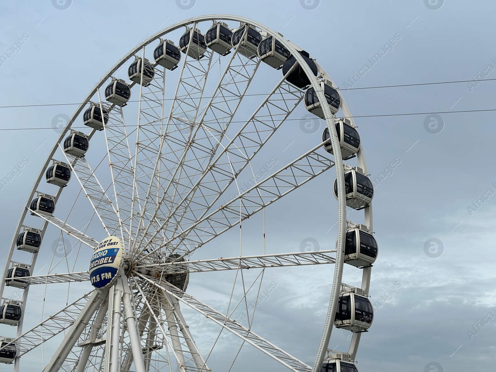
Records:
[[[166,170],[165,176],[170,175],[169,181],[165,183],[167,186],[165,187],[162,198],[155,204],[155,211],[151,214],[150,222],[144,229],[141,239],[144,240],[146,238],[148,242],[145,245],[140,244],[142,246],[141,248],[146,248],[150,239],[154,239],[162,232],[163,226],[168,223],[168,219],[170,218],[170,216],[166,217],[166,214],[177,215],[174,228],[177,230],[179,227],[178,222],[181,221],[186,213],[190,212],[189,203],[184,203],[184,201],[196,193],[198,187],[197,180],[203,178],[205,172],[207,172],[208,166],[211,164],[217,149],[221,145],[221,141],[224,140],[225,133],[240,107],[248,86],[260,64],[260,61],[248,60],[248,62],[245,62],[237,54],[238,47],[235,49],[212,97],[208,104],[202,108],[201,113],[196,111],[194,117],[192,114],[190,115],[193,120],[188,120],[172,116],[171,111],[167,124],[168,132],[164,136],[164,139],[166,139],[165,147],[168,149],[169,154],[174,155],[169,157],[171,159],[177,159],[177,161],[172,160],[171,162],[169,160],[171,162],[170,164],[164,164]],[[207,72],[205,72],[205,78]],[[201,81],[203,80],[198,80],[196,85]],[[191,89],[189,88],[189,90]],[[201,94],[198,94],[201,97],[203,87],[199,92]],[[226,98],[226,92],[232,98]],[[187,97],[190,95],[191,93],[189,92]],[[176,110],[180,109],[176,115],[186,116],[189,109],[185,110],[181,97],[176,96],[174,104],[176,102],[179,103]],[[182,103],[183,106],[181,105]],[[181,112],[181,110],[183,111]],[[199,116],[198,121],[196,121],[197,116]],[[189,135],[185,136],[185,134],[181,133],[181,130],[172,130],[172,127],[177,124],[187,125]],[[159,159],[160,157],[157,158],[157,162]],[[155,166],[153,177],[155,177],[156,169],[157,165]],[[199,193],[201,194],[200,198],[203,198],[204,195],[201,190]],[[163,210],[162,212],[161,209]],[[158,225],[158,228],[154,229],[155,232],[150,230],[152,224]]]

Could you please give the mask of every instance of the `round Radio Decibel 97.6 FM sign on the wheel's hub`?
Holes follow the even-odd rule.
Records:
[[[101,242],[91,256],[89,269],[91,285],[95,288],[105,288],[114,284],[122,258],[121,239],[109,237]]]

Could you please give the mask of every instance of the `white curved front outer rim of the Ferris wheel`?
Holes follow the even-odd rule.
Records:
[[[152,42],[154,40],[157,40],[161,36],[163,36],[163,35],[171,32],[171,31],[174,31],[176,29],[179,29],[181,27],[184,27],[184,26],[187,26],[187,25],[190,25],[190,24],[195,24],[197,22],[209,21],[209,20],[240,21],[240,22],[246,22],[246,23],[248,23],[250,25],[253,25],[255,27],[258,27],[258,28],[266,31],[267,34],[270,34],[271,36],[273,36],[274,38],[276,38],[277,40],[279,40],[288,50],[290,50],[292,52],[292,54],[295,56],[297,62],[300,63],[300,65],[303,67],[304,70],[306,69],[306,67],[308,67],[306,65],[306,63],[302,63],[304,61],[303,61],[303,59],[300,58],[300,55],[299,55],[298,51],[292,46],[292,44],[290,44],[289,42],[287,42],[287,40],[284,39],[280,34],[278,34],[277,32],[272,31],[271,29],[269,29],[268,27],[262,25],[261,23],[258,23],[256,21],[253,21],[251,19],[248,19],[248,18],[245,18],[245,17],[241,17],[241,16],[234,16],[234,15],[228,15],[228,14],[211,14],[211,15],[205,15],[205,16],[192,17],[192,18],[186,19],[184,21],[178,22],[178,23],[176,23],[174,25],[171,25],[171,26],[169,26],[169,27],[167,27],[167,28],[165,28],[165,29],[157,32],[156,34],[150,36],[148,39],[146,39],[145,41],[143,41],[142,43],[140,43],[138,46],[134,47],[134,49],[132,49],[130,52],[128,52],[119,62],[117,62],[107,72],[106,75],[104,75],[102,77],[102,79],[90,91],[90,93],[88,94],[88,96],[86,97],[86,99],[83,101],[83,103],[81,103],[79,105],[79,107],[76,109],[76,111],[74,112],[74,114],[72,115],[72,117],[67,122],[67,125],[62,130],[62,133],[59,136],[58,140],[56,141],[56,143],[54,145],[54,148],[52,149],[51,153],[47,157],[47,160],[46,160],[45,164],[43,165],[43,167],[42,167],[42,169],[40,171],[40,175],[38,176],[37,181],[33,185],[33,189],[31,191],[31,193],[30,193],[30,195],[28,197],[27,203],[26,203],[26,208],[24,208],[24,211],[23,211],[23,214],[22,214],[22,216],[21,216],[21,218],[19,220],[19,223],[18,223],[16,232],[14,233],[14,239],[12,241],[12,245],[11,245],[11,249],[10,249],[10,252],[9,252],[9,256],[7,257],[6,265],[8,265],[9,261],[11,260],[11,253],[12,253],[14,247],[15,247],[15,239],[16,239],[17,235],[19,234],[20,229],[22,227],[22,221],[23,221],[23,219],[25,217],[26,209],[29,207],[30,200],[32,200],[32,198],[33,198],[33,196],[34,196],[34,194],[36,192],[36,189],[38,188],[39,184],[41,183],[41,181],[43,179],[43,174],[44,174],[46,168],[48,167],[48,164],[50,163],[52,157],[54,156],[55,152],[57,151],[58,145],[60,143],[62,143],[63,138],[65,137],[65,135],[67,134],[68,130],[70,129],[70,127],[74,123],[75,119],[81,114],[82,110],[88,104],[88,102],[90,102],[91,97],[93,97],[95,95],[95,93],[99,91],[99,89],[103,86],[103,84],[105,84],[105,82],[112,76],[112,74],[116,70],[118,70],[133,55],[135,55],[139,50],[141,50],[144,46],[148,45],[150,42]],[[307,70],[309,70],[309,68],[307,68]],[[325,72],[323,69],[321,69],[321,71]],[[320,92],[319,89],[318,89],[318,80],[317,80],[317,77],[315,77],[313,74],[309,73],[309,71],[306,71],[306,73],[307,73],[307,76],[310,79],[311,86],[313,86],[313,88],[315,89],[315,91],[317,93],[317,96],[319,96],[319,100],[321,102],[322,101],[325,101],[325,97],[323,96],[323,93]],[[344,99],[342,99],[342,97],[341,97],[341,101],[345,105],[344,107],[346,108],[346,110],[348,110],[348,108],[346,106],[346,103],[345,103]],[[324,114],[325,114],[325,117],[326,117],[325,120],[326,120],[328,129],[331,132],[335,132],[335,126],[334,126],[334,122],[333,122],[334,116],[332,115],[332,113],[330,112],[330,109],[326,105],[323,105],[323,108],[322,109],[323,109]],[[344,109],[343,109],[343,111],[344,111]],[[345,115],[346,115],[346,113],[345,113]],[[90,132],[90,138],[91,138],[91,136],[93,135],[94,132],[95,132],[95,129],[92,129],[91,132]],[[333,133],[333,134],[335,134],[335,133]],[[335,135],[334,136],[331,136],[331,137],[333,139],[333,137],[335,137]],[[331,142],[332,142],[332,139],[331,139]],[[339,148],[339,146],[336,145],[336,143],[333,143],[333,147],[334,148]],[[362,159],[359,159],[359,162],[362,165],[362,163],[365,164],[365,158],[363,157],[362,144],[360,144],[360,147],[361,148],[360,148],[360,152],[359,152],[360,155],[359,156],[361,156]],[[340,154],[339,151],[336,151],[336,154],[334,154],[334,156],[335,156],[335,159],[336,159],[335,166],[336,166],[336,173],[337,173],[338,185],[339,185],[338,186],[338,211],[344,212],[344,213],[339,212],[340,213],[340,216],[338,217],[338,232],[339,232],[338,233],[338,241],[339,241],[339,237],[342,236],[341,243],[338,243],[338,244],[341,244],[341,247],[344,247],[343,246],[343,244],[344,244],[343,243],[343,237],[344,237],[344,233],[346,231],[346,203],[344,202],[344,196],[343,196],[343,192],[342,192],[342,189],[344,189],[344,181],[343,180],[341,180],[341,182],[339,181],[340,175],[343,174],[343,162],[342,162],[341,154]],[[365,165],[364,168],[366,169],[366,165]],[[341,184],[342,184],[342,186],[341,186]],[[340,190],[341,190],[341,194],[340,194]],[[58,194],[59,194],[59,191],[60,190],[58,190]],[[56,195],[56,200],[58,199],[58,196],[59,196],[58,194]],[[370,225],[372,226],[372,205],[370,206]],[[343,265],[344,265],[344,261],[340,257],[340,254],[339,254],[339,252],[341,250],[343,250],[343,249],[338,249],[337,250],[336,264],[335,264],[335,271],[340,271],[340,272],[342,272],[342,268],[343,268]],[[340,258],[338,258],[338,256]],[[5,267],[5,272],[6,272],[6,270],[7,270],[7,267]],[[4,275],[5,275],[5,272],[4,272]],[[365,275],[365,272],[364,272],[364,275]],[[336,280],[333,281],[333,283],[335,283],[335,282],[337,284],[337,281]],[[369,282],[370,282],[370,275],[369,275],[369,278],[368,278],[368,282],[366,283],[366,287],[367,288],[369,286]],[[339,280],[339,285],[337,287],[339,287],[340,284],[341,284],[341,280]],[[4,286],[4,281],[1,283],[1,292],[3,292],[3,286]],[[333,286],[334,286],[334,284],[333,284]],[[27,293],[27,291],[26,291],[26,293]],[[331,299],[332,299],[332,295],[331,295]],[[331,328],[332,328],[332,324],[331,324]],[[20,329],[22,329],[22,324],[21,324]],[[355,336],[355,334],[354,334],[354,336]],[[357,337],[357,338],[359,339],[359,337]],[[359,340],[357,340],[357,346],[358,346],[358,341]],[[318,363],[316,361],[315,365],[317,365],[317,364]],[[315,365],[314,365],[314,368],[315,368]]]

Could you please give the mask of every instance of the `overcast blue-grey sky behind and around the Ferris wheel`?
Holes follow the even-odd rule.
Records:
[[[59,6],[64,9],[51,0],[0,4],[0,55],[13,51],[0,65],[0,127],[49,127],[1,131],[0,178],[15,174],[0,190],[3,255],[26,197],[59,136],[53,123],[75,109],[4,106],[79,103],[131,48],[180,20],[210,13],[254,19],[309,51],[340,88],[496,78],[493,1],[321,0],[318,4],[315,0],[316,8],[303,6],[303,0],[191,1],[192,7],[183,6],[187,9],[174,0],[72,0],[68,7]],[[382,53],[381,59],[372,61],[377,53]],[[266,66],[264,70],[269,74]],[[273,73],[279,78],[280,72]],[[358,74],[363,76],[357,79]],[[355,122],[372,179],[381,173],[387,176],[376,187],[373,199],[379,255],[370,293],[372,303],[381,297],[387,301],[376,310],[370,331],[362,335],[357,355],[362,372],[494,371],[496,319],[490,318],[496,316],[495,113],[460,113],[495,109],[493,87],[493,81],[482,81],[342,93],[358,117]],[[304,109],[298,113],[303,115]],[[431,113],[440,113],[437,126],[429,127]],[[419,115],[381,116],[389,114]],[[264,153],[266,159],[276,158],[283,166],[288,156],[301,155],[319,142],[320,130],[307,134],[297,123],[287,124],[280,142]],[[293,147],[283,153],[295,139]],[[306,147],[299,149],[299,144]],[[395,161],[399,162],[396,168],[388,169]],[[19,162],[25,163],[23,169],[14,171]],[[321,248],[334,246],[333,172],[266,208],[267,252],[298,251],[309,237]],[[77,190],[75,180],[69,186]],[[486,200],[477,201],[479,197]],[[323,208],[324,202],[329,207]],[[259,251],[261,216],[245,226],[247,251]],[[56,239],[54,230],[47,234],[50,238],[42,247],[46,255],[40,258],[44,263],[50,262]],[[224,234],[209,246],[217,250],[199,252],[195,259],[235,256],[238,234],[237,229]],[[437,245],[437,251],[429,251],[432,245]],[[311,365],[333,268],[267,269],[263,287],[272,286],[272,291],[256,310],[254,331]],[[347,267],[343,280],[359,284],[359,274]],[[234,272],[191,275],[188,292],[225,311],[233,280]],[[388,293],[392,286],[398,287],[393,294]],[[90,289],[89,284],[74,286],[73,296]],[[49,292],[53,298],[48,309],[61,309],[65,299],[59,301],[56,291]],[[42,289],[30,295],[28,311],[39,309]],[[208,350],[217,328],[192,310],[184,311],[200,349]],[[474,329],[479,321],[488,324]],[[0,325],[0,334],[12,330]],[[340,349],[347,338],[349,333],[335,329],[330,347]],[[227,371],[240,342],[229,335],[222,342],[224,352],[212,356],[210,367]],[[46,363],[50,353],[45,350],[45,354]],[[33,355],[23,358],[25,371],[39,370],[41,354]],[[244,346],[232,371],[262,368],[285,370]],[[0,370],[13,368],[2,366]]]

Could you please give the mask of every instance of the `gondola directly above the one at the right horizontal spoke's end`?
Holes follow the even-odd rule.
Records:
[[[362,169],[353,167],[344,173],[346,205],[360,210],[369,206],[373,197],[371,180],[364,175]],[[334,196],[338,198],[337,180],[334,180]]]

